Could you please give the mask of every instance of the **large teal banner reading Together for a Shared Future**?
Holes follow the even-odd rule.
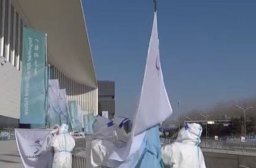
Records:
[[[45,124],[46,37],[28,27],[23,29],[20,123]]]

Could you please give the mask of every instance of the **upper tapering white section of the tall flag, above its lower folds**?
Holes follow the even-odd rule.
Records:
[[[155,12],[139,108],[135,113],[134,135],[163,122],[171,113],[171,104],[160,64],[157,12]]]

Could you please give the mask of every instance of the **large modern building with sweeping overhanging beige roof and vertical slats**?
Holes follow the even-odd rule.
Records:
[[[97,115],[98,84],[81,1],[0,0],[0,130],[19,123],[24,26],[47,34],[51,75],[68,100]]]

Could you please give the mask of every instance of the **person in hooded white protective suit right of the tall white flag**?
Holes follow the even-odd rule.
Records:
[[[203,129],[196,123],[186,124],[176,141],[162,147],[163,163],[173,168],[206,168],[204,156],[198,144]]]

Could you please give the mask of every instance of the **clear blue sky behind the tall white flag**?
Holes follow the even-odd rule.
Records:
[[[116,113],[139,103],[151,0],[83,0],[98,80],[116,82]],[[177,116],[256,95],[256,1],[158,0],[163,77]]]

